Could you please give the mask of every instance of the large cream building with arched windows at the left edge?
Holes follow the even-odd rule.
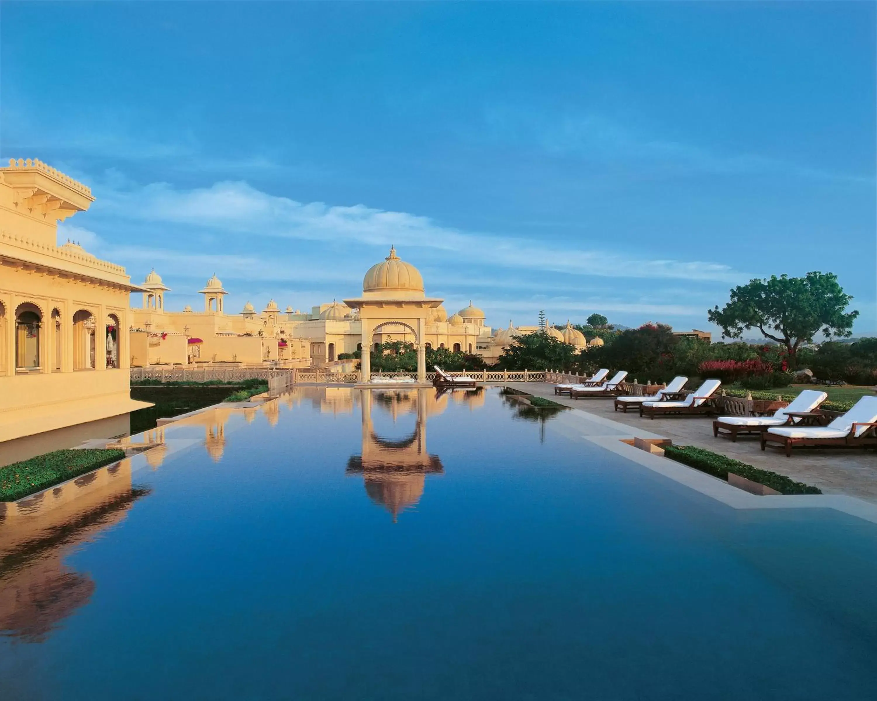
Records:
[[[91,202],[39,160],[0,168],[0,464],[33,455],[34,441],[45,452],[90,437],[86,425],[126,433],[129,412],[150,406],[130,397],[123,331],[140,288],[125,268],[57,245],[58,221]]]

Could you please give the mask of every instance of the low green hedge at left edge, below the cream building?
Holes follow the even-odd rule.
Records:
[[[0,501],[15,501],[125,457],[125,450],[54,450],[0,467]]]

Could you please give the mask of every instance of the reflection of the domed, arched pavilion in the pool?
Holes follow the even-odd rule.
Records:
[[[348,474],[362,474],[366,493],[375,503],[398,514],[420,501],[424,493],[425,475],[442,472],[441,460],[426,450],[426,417],[430,408],[444,411],[447,398],[432,389],[400,392],[361,391],[362,454],[347,461]],[[440,400],[444,399],[444,403]],[[400,441],[389,441],[374,432],[372,405],[378,404],[396,418],[399,414],[417,414],[414,432]]]

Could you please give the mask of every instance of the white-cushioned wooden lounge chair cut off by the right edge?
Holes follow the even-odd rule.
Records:
[[[768,428],[761,434],[761,450],[767,443],[785,446],[787,457],[795,445],[877,448],[877,397],[862,397],[828,426]]]

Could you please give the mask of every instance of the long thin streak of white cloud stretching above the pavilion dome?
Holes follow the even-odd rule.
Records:
[[[113,192],[105,196],[102,209],[126,218],[253,237],[427,248],[433,257],[451,258],[460,266],[477,263],[543,273],[654,280],[738,282],[746,277],[721,263],[632,258],[584,247],[556,249],[537,240],[455,230],[425,216],[363,204],[296,202],[246,182],[217,182],[192,190],[154,183],[136,191]]]

